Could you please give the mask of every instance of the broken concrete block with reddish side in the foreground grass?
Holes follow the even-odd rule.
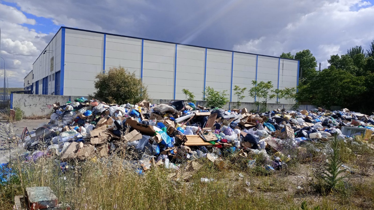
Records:
[[[30,210],[53,208],[58,204],[57,197],[50,187],[26,188],[26,194]]]

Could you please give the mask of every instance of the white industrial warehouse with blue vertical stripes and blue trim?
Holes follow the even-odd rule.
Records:
[[[95,76],[118,66],[142,78],[153,99],[185,99],[182,89],[189,89],[200,100],[210,86],[236,101],[235,85],[250,89],[257,80],[296,87],[299,72],[293,59],[61,27],[24,87],[29,94],[88,96]],[[243,102],[253,101],[246,93]]]

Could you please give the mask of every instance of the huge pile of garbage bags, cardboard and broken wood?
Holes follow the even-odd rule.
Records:
[[[348,109],[249,113],[246,108],[206,108],[184,101],[117,105],[83,97],[53,104],[53,109],[49,124],[24,138],[28,161],[56,155],[64,170],[70,160],[121,154],[117,157],[123,157],[124,167],[142,174],[152,165],[177,171],[181,160],[187,159],[187,173],[180,175],[183,179],[201,167],[193,161],[197,158],[220,166],[224,152],[243,157],[263,154],[269,159],[263,167],[276,170],[290,158],[281,152],[285,140],[299,145],[334,134],[341,139],[361,136],[368,140],[374,132],[374,116]],[[255,164],[255,160],[248,161],[249,167]]]

